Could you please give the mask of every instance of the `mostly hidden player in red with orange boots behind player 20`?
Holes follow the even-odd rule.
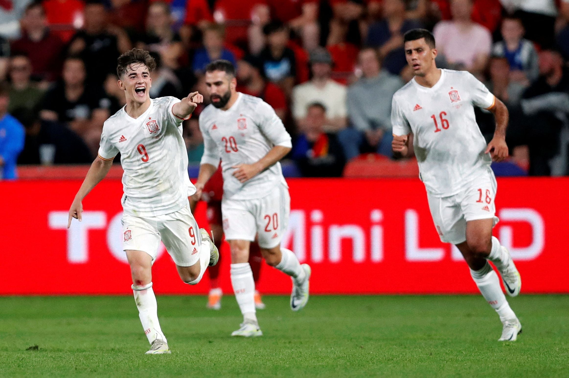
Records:
[[[219,273],[221,268],[221,244],[223,242],[223,226],[221,217],[221,198],[223,197],[223,176],[221,175],[221,165],[217,168],[217,171],[209,179],[207,184],[205,184],[203,192],[201,193],[201,200],[207,203],[207,209],[205,215],[208,218],[209,228],[212,231],[213,240],[217,250],[220,251],[220,260],[214,267],[208,269],[209,275],[209,295],[207,308],[211,310],[221,310],[221,297],[223,292],[221,290],[221,285],[219,283]],[[191,197],[190,208],[192,209],[192,214],[196,208],[197,201],[193,200]],[[261,250],[259,249],[259,244],[253,242],[249,246],[249,265],[251,266],[251,272],[253,272],[253,281],[255,283],[255,288],[257,288],[257,283],[261,277],[261,264],[263,262],[263,257],[261,256]],[[265,304],[261,298],[261,293],[255,289],[255,308],[257,310],[265,309]]]

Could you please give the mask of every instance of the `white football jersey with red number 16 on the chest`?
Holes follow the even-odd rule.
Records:
[[[432,88],[415,78],[393,95],[394,135],[413,132],[420,178],[437,197],[453,196],[492,163],[474,106],[488,109],[494,95],[467,71],[442,69]]]

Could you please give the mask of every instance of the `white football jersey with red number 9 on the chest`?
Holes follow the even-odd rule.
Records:
[[[110,160],[121,153],[126,214],[155,217],[182,209],[196,192],[188,177],[188,154],[182,138],[182,119],[172,111],[175,97],[150,100],[134,119],[125,107],[105,121],[98,155]]]

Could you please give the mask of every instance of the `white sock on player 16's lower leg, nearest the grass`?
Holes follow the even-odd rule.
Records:
[[[516,314],[510,309],[504,292],[502,292],[498,275],[494,272],[494,269],[490,267],[490,264],[486,263],[484,268],[479,271],[470,269],[470,275],[486,302],[496,310],[502,323],[506,320],[516,319]]]

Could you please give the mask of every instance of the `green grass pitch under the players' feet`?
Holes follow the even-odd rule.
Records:
[[[510,300],[513,343],[480,296],[312,296],[299,313],[263,300],[265,335],[238,339],[233,297],[212,311],[158,296],[172,354],[152,356],[131,297],[0,297],[0,376],[569,376],[569,296]]]

